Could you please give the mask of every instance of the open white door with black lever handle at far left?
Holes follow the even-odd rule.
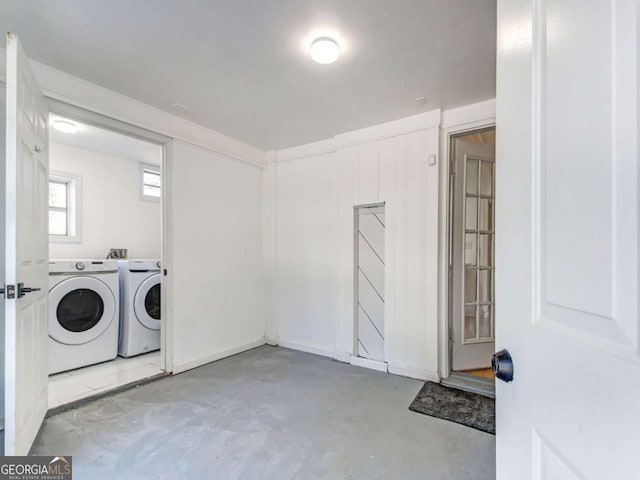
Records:
[[[5,454],[24,455],[47,411],[48,111],[7,35]],[[22,288],[21,288],[22,287]],[[10,290],[11,289],[11,290]],[[31,289],[39,289],[29,291]]]

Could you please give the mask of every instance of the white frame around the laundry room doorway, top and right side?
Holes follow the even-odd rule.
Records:
[[[165,271],[171,271],[171,236],[167,225],[170,223],[170,192],[173,165],[173,139],[166,135],[147,130],[136,125],[117,120],[115,118],[93,112],[88,109],[77,107],[75,105],[62,102],[46,95],[49,106],[49,113],[64,116],[71,120],[86,123],[88,125],[109,130],[115,133],[126,135],[128,137],[137,138],[145,142],[159,145],[162,148],[162,160],[160,162],[160,172],[162,174],[162,182],[160,185],[160,261],[162,262],[161,288],[160,297],[161,311],[163,312],[160,319],[160,368],[166,373],[173,371],[173,300],[171,283]]]

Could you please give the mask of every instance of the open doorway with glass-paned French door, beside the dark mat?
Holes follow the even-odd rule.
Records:
[[[450,374],[443,383],[494,395],[495,127],[449,142]]]

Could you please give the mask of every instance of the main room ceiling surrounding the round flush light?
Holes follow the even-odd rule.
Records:
[[[265,150],[493,98],[495,17],[496,0],[0,2],[34,60]],[[315,64],[327,34],[342,56]]]

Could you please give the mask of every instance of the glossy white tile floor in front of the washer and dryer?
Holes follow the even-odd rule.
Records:
[[[49,377],[49,408],[59,407],[162,373],[160,352],[91,365]]]

